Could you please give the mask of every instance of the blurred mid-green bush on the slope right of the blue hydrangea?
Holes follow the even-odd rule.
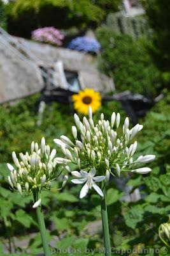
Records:
[[[162,74],[153,65],[145,49],[145,38],[134,41],[128,35],[115,35],[103,26],[97,29],[102,46],[99,65],[101,70],[113,77],[119,92],[155,96],[162,86]]]

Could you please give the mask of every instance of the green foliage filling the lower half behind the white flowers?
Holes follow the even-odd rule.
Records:
[[[11,150],[28,150],[32,140],[39,141],[41,136],[52,147],[53,138],[61,134],[71,136],[70,127],[73,125],[73,116],[66,105],[53,103],[46,106],[41,126],[37,126],[38,114],[35,102],[39,95],[29,97],[14,106],[1,106],[1,162],[11,161]],[[156,154],[157,158],[149,175],[132,175],[128,185],[131,193],[140,189],[141,199],[138,202],[122,201],[122,190],[111,181],[107,190],[108,216],[110,220],[111,244],[124,250],[136,248],[145,244],[147,248],[161,248],[162,242],[158,236],[160,223],[166,222],[170,213],[170,143],[169,143],[169,111],[170,96],[157,103],[146,115],[144,129],[138,136],[138,154]],[[118,102],[103,104],[100,111],[94,115],[97,120],[101,112],[110,118],[113,111],[119,111],[125,116]],[[122,117],[124,122],[124,117]],[[22,197],[9,189],[7,176],[9,171],[6,164],[0,164],[0,234],[4,238],[15,236],[24,239],[25,235],[32,234],[27,248],[18,248],[20,255],[38,255],[43,252],[41,237],[38,234],[36,212],[32,209],[32,197]],[[123,179],[123,177],[122,177]],[[52,188],[60,188],[59,182],[52,182]],[[72,252],[103,247],[100,198],[95,193],[79,200],[81,185],[74,186],[68,182],[63,191],[43,191],[42,204],[45,213],[48,239],[52,241],[52,252],[56,255],[64,248],[72,248]],[[92,191],[93,192],[93,191]],[[144,235],[145,234],[145,235]],[[81,238],[80,238],[81,237]],[[1,244],[0,244],[1,248]],[[56,248],[58,249],[56,251]],[[0,251],[1,252],[1,251]],[[1,254],[1,253],[0,253]],[[54,255],[55,255],[54,254]],[[73,254],[73,253],[72,253]],[[72,255],[69,253],[69,255]],[[15,255],[15,253],[9,255]],[[17,255],[17,254],[16,254]],[[75,253],[74,253],[75,255]],[[92,255],[89,253],[89,255]]]

